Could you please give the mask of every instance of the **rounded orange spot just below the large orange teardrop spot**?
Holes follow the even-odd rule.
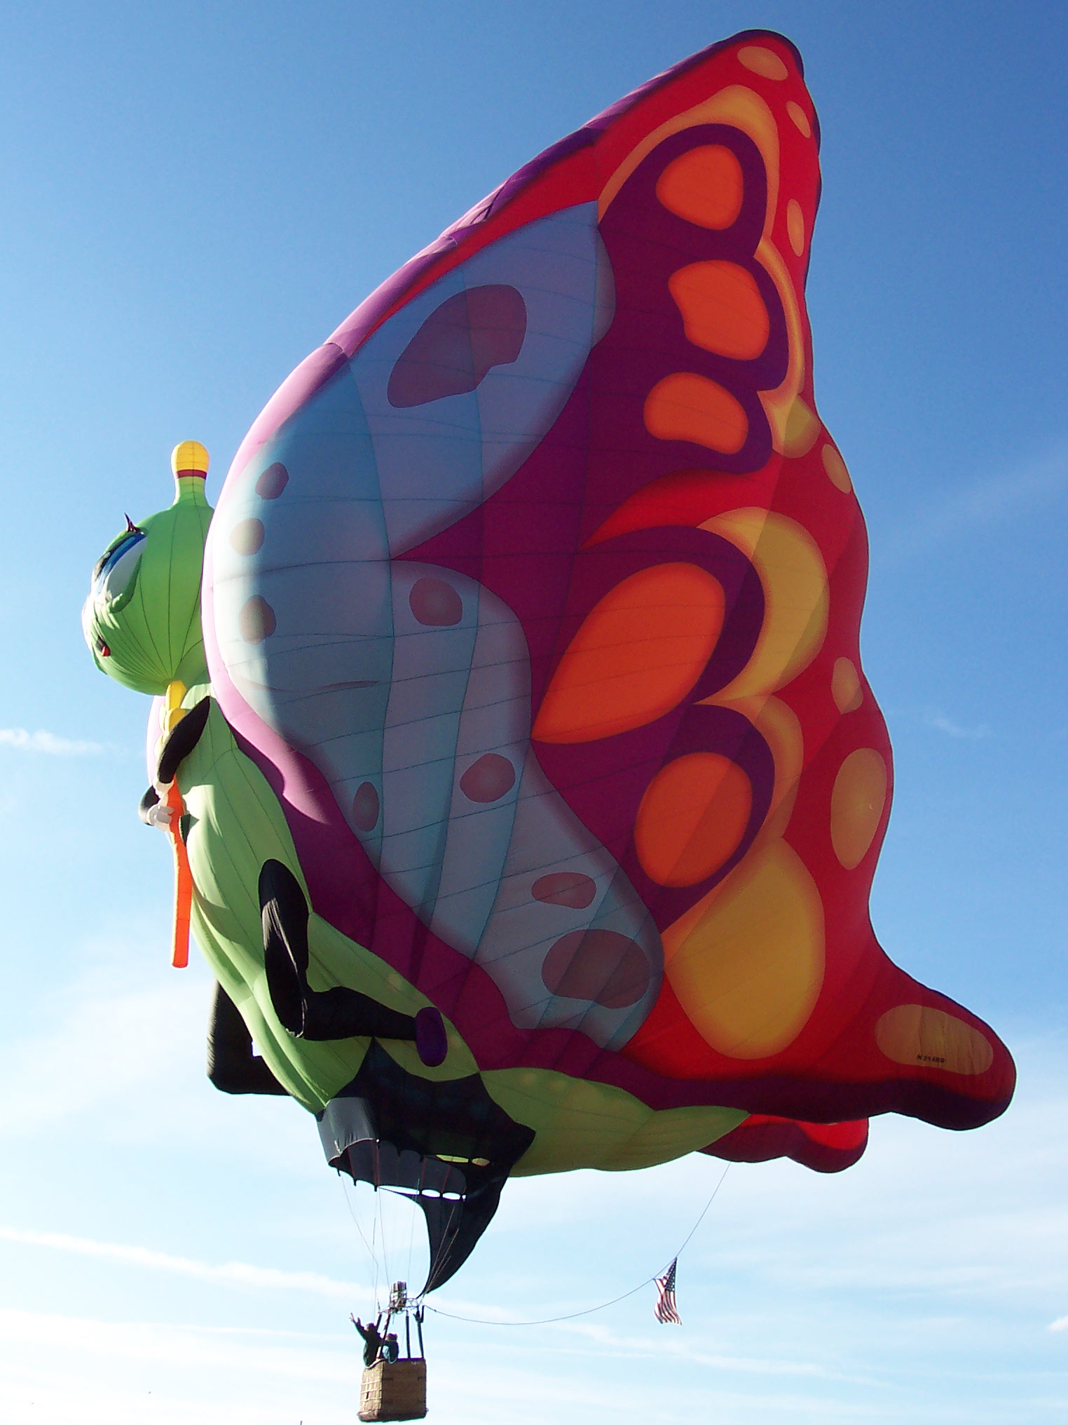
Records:
[[[738,848],[752,804],[749,778],[718,752],[668,762],[649,782],[634,826],[645,874],[662,886],[705,881]]]

